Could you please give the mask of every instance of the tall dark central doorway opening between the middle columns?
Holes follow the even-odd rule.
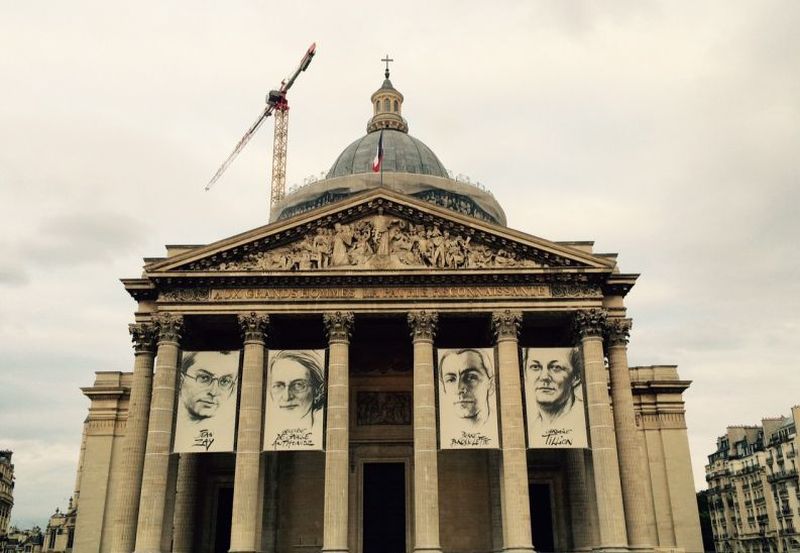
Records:
[[[403,463],[364,463],[362,553],[405,553],[406,471]]]

